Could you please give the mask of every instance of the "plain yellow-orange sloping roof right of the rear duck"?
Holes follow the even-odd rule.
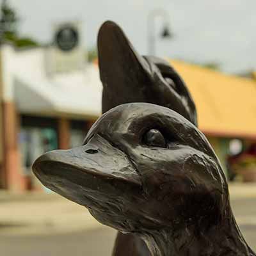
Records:
[[[256,139],[256,81],[170,61],[188,85],[199,128],[208,135]]]

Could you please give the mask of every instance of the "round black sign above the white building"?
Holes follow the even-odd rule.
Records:
[[[71,51],[78,44],[78,33],[72,26],[65,26],[56,33],[56,44],[61,51]]]

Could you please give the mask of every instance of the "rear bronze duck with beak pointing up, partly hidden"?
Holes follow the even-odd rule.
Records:
[[[102,113],[124,103],[148,102],[175,110],[197,125],[195,103],[182,77],[160,58],[140,56],[112,21],[98,35],[99,70],[103,85]],[[118,233],[113,256],[150,256],[134,234]]]

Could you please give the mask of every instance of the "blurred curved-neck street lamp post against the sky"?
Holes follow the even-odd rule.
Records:
[[[169,28],[168,13],[164,10],[153,10],[148,14],[148,54],[156,54],[156,33],[155,33],[155,19],[156,17],[162,17],[164,20],[163,31],[161,32],[161,38],[171,38],[172,33]]]

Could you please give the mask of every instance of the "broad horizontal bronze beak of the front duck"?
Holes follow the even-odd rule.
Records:
[[[141,186],[124,152],[97,134],[82,147],[45,153],[32,169],[44,186],[86,207]]]

